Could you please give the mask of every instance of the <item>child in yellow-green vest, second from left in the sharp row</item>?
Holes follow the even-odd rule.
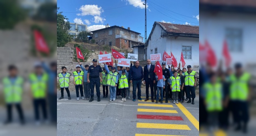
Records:
[[[74,75],[74,85],[75,85],[75,91],[77,93],[77,100],[79,100],[79,89],[82,99],[84,100],[84,93],[83,93],[83,80],[84,80],[84,71],[80,70],[80,65],[76,66],[77,71],[73,72]]]

